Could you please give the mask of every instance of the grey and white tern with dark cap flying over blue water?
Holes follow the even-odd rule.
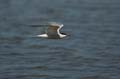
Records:
[[[50,38],[50,39],[61,39],[67,36],[65,33],[61,33],[60,29],[64,26],[56,22],[50,22],[47,25],[48,27],[45,30],[45,34],[37,35],[41,38]]]

